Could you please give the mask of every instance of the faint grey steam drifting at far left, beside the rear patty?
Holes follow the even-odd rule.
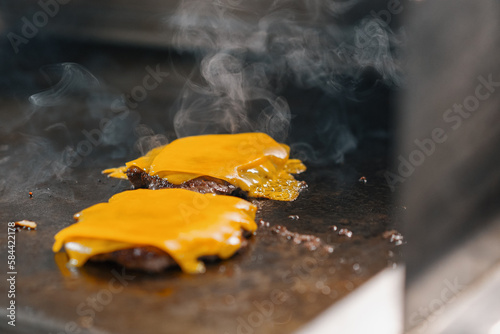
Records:
[[[71,172],[76,167],[95,166],[103,158],[123,158],[136,140],[130,134],[139,122],[137,113],[126,108],[114,110],[112,106],[124,104],[123,96],[100,83],[86,68],[61,63],[46,66],[41,73],[50,88],[32,95],[31,108],[2,133],[15,138],[15,144],[0,146],[0,166],[16,171],[0,181],[0,191],[11,191],[5,200],[12,199],[13,189],[19,189],[17,195],[22,196],[26,189],[53,178],[72,180]],[[47,192],[65,199],[72,197],[66,188],[57,191],[43,187],[36,190],[38,195]]]

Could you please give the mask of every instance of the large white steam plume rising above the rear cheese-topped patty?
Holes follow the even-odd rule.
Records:
[[[201,79],[188,80],[173,109],[177,136],[263,131],[284,141],[294,111],[282,94],[290,85],[321,90],[331,101],[356,99],[367,68],[381,82],[399,85],[393,56],[399,40],[385,22],[367,17],[355,26],[336,23],[357,3],[182,1],[170,21],[174,44],[195,51]],[[344,111],[310,112],[322,147],[295,143],[297,154],[341,161],[356,146]]]

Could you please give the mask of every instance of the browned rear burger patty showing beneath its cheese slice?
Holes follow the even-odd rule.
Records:
[[[210,176],[201,176],[181,184],[173,184],[158,176],[151,176],[137,167],[130,167],[126,171],[127,177],[134,188],[148,188],[152,190],[163,188],[182,188],[202,194],[231,195],[238,188],[231,183]],[[234,195],[234,194],[233,194]]]

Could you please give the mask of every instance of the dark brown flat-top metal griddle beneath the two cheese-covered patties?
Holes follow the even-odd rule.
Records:
[[[0,98],[2,235],[9,221],[38,223],[36,231],[16,233],[17,325],[14,328],[2,321],[2,332],[285,333],[305,325],[397,262],[401,247],[382,237],[404,211],[392,204],[384,178],[390,141],[373,139],[364,131],[366,139],[346,155],[344,163],[320,167],[306,161],[308,170],[297,178],[309,187],[295,202],[255,200],[257,220],[270,226],[259,228],[241,254],[208,264],[203,275],[187,275],[179,269],[154,275],[126,271],[122,275],[122,268],[109,263],[68,269],[65,253],[52,252],[54,235],[73,223],[74,213],[130,189],[128,181],[109,179],[101,170],[138,156],[132,149],[138,139],[137,124],[146,124],[168,140],[175,137],[168,126],[172,121],[169,110],[192,71],[193,59],[182,55],[168,61],[163,51],[84,44],[36,46],[35,41],[29,44],[38,53],[23,53],[29,61],[13,59],[17,63],[7,71],[11,84]],[[59,62],[83,65],[99,78],[100,86],[91,95],[71,98],[67,105],[37,109],[28,97],[47,88],[38,68]],[[170,75],[148,92],[147,99],[125,120],[125,127],[115,131],[119,137],[107,138],[115,146],[94,145],[67,173],[59,174],[57,163],[64,157],[64,148],[78,149],[88,141],[82,131],[97,129],[102,117],[113,116],[109,107],[115,99],[132,92],[142,83],[147,67],[157,64]],[[308,116],[312,108],[337,106],[317,90],[292,90],[286,98],[296,117],[292,120],[296,122],[292,131],[298,130],[295,138],[316,134],[316,125]],[[386,108],[382,99],[369,103]],[[380,110],[386,110],[383,108]],[[358,105],[354,114],[366,122],[357,124],[376,122],[379,114],[372,110],[367,104]],[[325,123],[321,120],[317,119]],[[329,119],[332,124],[337,121]],[[317,137],[319,146],[325,144],[321,134]],[[358,181],[362,176],[367,183]],[[289,218],[294,215],[299,219]],[[320,247],[310,251],[274,234],[275,225],[315,235],[334,250],[329,253]],[[342,228],[352,231],[352,237],[339,235]],[[6,259],[7,238],[0,239],[0,249],[0,257]],[[6,296],[5,282],[0,284],[1,296]],[[3,306],[0,309],[6,311]]]

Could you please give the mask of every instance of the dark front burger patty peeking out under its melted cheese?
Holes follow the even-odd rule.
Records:
[[[244,231],[243,235],[249,237],[251,233]],[[240,249],[242,251],[248,246],[248,241],[241,241]],[[215,262],[219,259],[216,255],[200,257],[204,262]],[[153,246],[141,246],[128,249],[121,249],[111,253],[97,254],[92,256],[89,261],[93,262],[116,262],[127,269],[144,270],[147,272],[161,272],[167,268],[177,267],[175,260],[163,250]]]

